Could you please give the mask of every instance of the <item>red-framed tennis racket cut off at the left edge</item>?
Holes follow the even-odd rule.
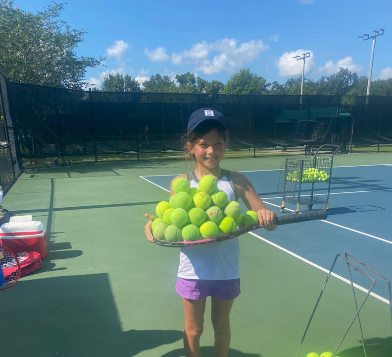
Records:
[[[0,245],[0,267],[0,284],[2,283],[0,285],[0,290],[15,285],[20,278],[21,272],[19,259],[11,249],[8,249],[3,245]]]

